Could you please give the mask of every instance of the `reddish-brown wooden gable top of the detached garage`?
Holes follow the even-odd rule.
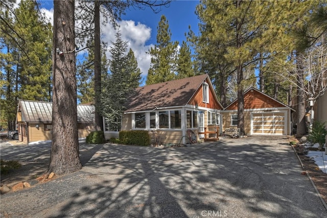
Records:
[[[224,110],[237,110],[238,99],[230,103]],[[244,92],[244,109],[259,109],[259,108],[275,108],[275,107],[287,107],[292,111],[295,111],[290,106],[279,102],[278,100],[271,98],[269,95],[263,93],[262,91],[250,87]]]

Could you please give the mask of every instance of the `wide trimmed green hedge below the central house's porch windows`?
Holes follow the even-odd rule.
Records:
[[[150,135],[145,130],[120,131],[119,141],[123,144],[133,144],[135,146],[149,146]]]

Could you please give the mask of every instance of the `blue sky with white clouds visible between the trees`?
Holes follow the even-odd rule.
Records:
[[[49,17],[53,23],[53,1],[39,0],[41,11]],[[185,41],[185,33],[189,32],[189,25],[193,32],[198,34],[198,18],[195,15],[196,5],[199,1],[172,1],[169,7],[161,7],[158,13],[154,13],[150,8],[145,10],[130,8],[126,15],[119,21],[122,39],[128,41],[128,46],[134,51],[137,63],[142,76],[145,78],[150,67],[151,57],[147,52],[150,47],[156,44],[157,26],[161,15],[165,15],[169,29],[172,33],[172,41],[178,41],[180,44]],[[111,25],[101,28],[102,40],[108,42],[107,57],[110,56],[110,42],[114,41],[115,31]]]

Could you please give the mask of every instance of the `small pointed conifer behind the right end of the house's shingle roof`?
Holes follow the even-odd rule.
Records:
[[[191,49],[185,41],[182,42],[180,47],[176,67],[176,79],[192,77],[195,75],[192,64]]]

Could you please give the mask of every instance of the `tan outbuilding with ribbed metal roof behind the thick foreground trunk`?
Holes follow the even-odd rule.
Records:
[[[78,136],[85,138],[94,123],[93,105],[77,105]],[[30,143],[52,139],[52,102],[19,100],[16,125],[20,141]]]

